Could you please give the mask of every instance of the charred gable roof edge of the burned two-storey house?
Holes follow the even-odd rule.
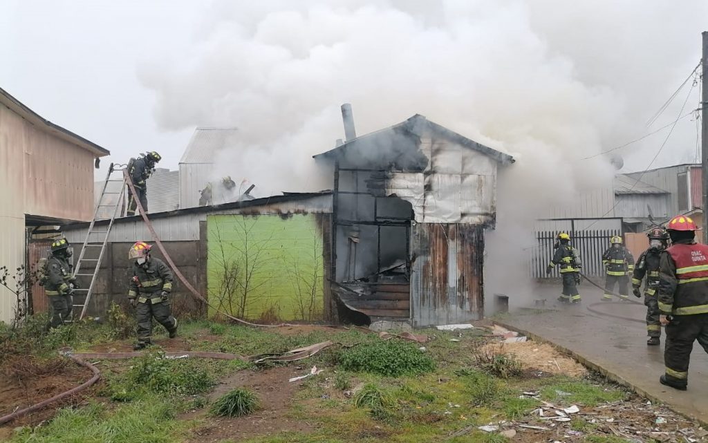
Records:
[[[472,139],[468,139],[467,137],[457,134],[457,132],[448,130],[446,127],[438,125],[435,122],[431,122],[426,117],[420,114],[413,115],[413,117],[410,117],[408,120],[400,122],[397,125],[389,126],[382,130],[370,132],[369,134],[356,137],[355,139],[352,139],[346,142],[345,144],[341,144],[340,146],[337,146],[334,149],[330,149],[329,151],[323,152],[321,154],[316,154],[312,156],[312,158],[334,160],[344,156],[347,151],[358,148],[362,146],[362,144],[370,142],[372,141],[372,139],[376,139],[377,137],[389,137],[389,134],[395,132],[405,132],[413,135],[420,135],[425,130],[428,130],[433,134],[437,134],[440,137],[445,137],[446,139],[449,139],[450,141],[455,142],[466,148],[479,151],[482,154],[490,156],[492,159],[498,161],[499,163],[510,164],[514,163],[515,161],[514,158],[508,154],[504,154],[501,151],[492,149],[489,146],[484,146],[484,144],[477,143]]]

